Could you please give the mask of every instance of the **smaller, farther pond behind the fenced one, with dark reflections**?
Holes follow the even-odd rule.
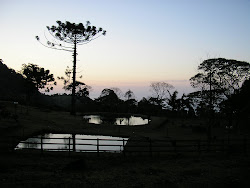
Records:
[[[85,115],[83,116],[83,120],[87,123],[93,124],[113,124],[113,125],[146,125],[150,122],[149,119],[137,116],[129,116],[129,117],[114,117],[107,115]]]

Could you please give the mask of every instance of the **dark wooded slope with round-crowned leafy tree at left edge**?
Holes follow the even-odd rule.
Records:
[[[34,64],[24,64],[21,71],[16,72],[0,59],[0,100],[35,104],[41,95],[39,89],[46,91],[53,89],[50,82],[54,82],[54,78],[49,72]]]

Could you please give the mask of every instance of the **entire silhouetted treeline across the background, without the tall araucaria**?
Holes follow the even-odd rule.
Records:
[[[250,65],[247,62],[224,58],[208,59],[190,78],[195,92],[178,97],[174,86],[166,82],[150,84],[151,96],[137,101],[133,91],[122,94],[119,88],[105,88],[100,96],[91,99],[91,87],[76,81],[77,112],[141,113],[182,117],[211,117],[222,115],[233,119],[249,117]],[[72,92],[72,70],[65,71],[64,89]],[[71,95],[45,95],[39,92],[53,90],[55,78],[49,70],[38,65],[23,65],[20,73],[0,62],[0,100],[15,100],[55,110],[70,111]]]

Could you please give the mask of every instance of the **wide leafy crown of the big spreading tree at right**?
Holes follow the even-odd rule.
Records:
[[[250,64],[232,59],[208,59],[199,66],[200,71],[190,78],[193,87],[217,89],[225,95],[230,95],[240,88],[240,84],[250,77]]]

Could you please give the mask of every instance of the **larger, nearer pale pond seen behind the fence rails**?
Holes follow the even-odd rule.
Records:
[[[121,152],[128,138],[72,135],[72,134],[44,134],[25,141],[21,141],[18,149],[42,149],[48,151],[76,151],[76,152]]]

